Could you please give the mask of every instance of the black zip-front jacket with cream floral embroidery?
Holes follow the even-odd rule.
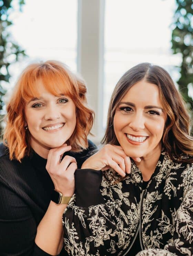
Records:
[[[140,256],[193,255],[193,164],[162,152],[146,189],[134,163],[119,178],[113,170],[75,173],[62,220],[69,255],[130,255],[137,236]]]

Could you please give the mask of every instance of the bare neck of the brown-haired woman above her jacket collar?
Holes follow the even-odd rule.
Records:
[[[141,157],[141,162],[135,162],[136,166],[140,169],[143,180],[149,181],[152,174],[155,171],[155,167],[158,163],[161,154],[161,145],[158,148],[155,148],[153,152],[149,153],[146,156]]]

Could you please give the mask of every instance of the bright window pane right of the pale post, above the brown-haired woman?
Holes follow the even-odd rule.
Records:
[[[175,0],[105,0],[103,127],[114,86],[132,66],[157,64],[177,81],[181,56],[172,56],[170,43],[175,8]]]

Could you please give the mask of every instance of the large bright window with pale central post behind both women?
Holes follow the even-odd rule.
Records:
[[[18,0],[13,0],[17,6]],[[95,111],[92,140],[103,137],[110,96],[132,66],[164,67],[174,81],[180,55],[171,52],[175,0],[26,0],[13,12],[11,33],[28,58],[12,65],[11,84],[32,61],[56,59],[80,72]]]

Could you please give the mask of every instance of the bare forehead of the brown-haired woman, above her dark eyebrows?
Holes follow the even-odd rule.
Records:
[[[146,81],[134,84],[121,99],[121,102],[132,102],[143,106],[162,106],[159,87]]]

